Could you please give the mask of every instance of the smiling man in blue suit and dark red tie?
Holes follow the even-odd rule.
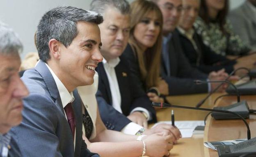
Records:
[[[101,15],[75,7],[45,13],[36,32],[40,61],[22,80],[23,122],[12,128],[24,157],[98,157],[82,140],[82,104],[78,86],[94,82],[102,61],[98,24]]]

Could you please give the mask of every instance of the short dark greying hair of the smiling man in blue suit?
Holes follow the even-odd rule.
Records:
[[[48,42],[56,39],[68,47],[78,34],[79,21],[101,24],[103,17],[94,11],[85,11],[76,7],[57,7],[46,12],[41,18],[35,35],[40,60],[50,59]]]

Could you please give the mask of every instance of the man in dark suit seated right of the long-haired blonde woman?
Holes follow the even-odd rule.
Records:
[[[153,0],[160,7],[163,15],[163,47],[162,47],[162,77],[169,84],[170,95],[205,93],[218,84],[194,84],[197,79],[224,80],[227,73],[224,70],[212,72],[209,75],[193,68],[183,54],[175,31],[182,11],[182,0]],[[219,88],[224,91],[226,85]]]

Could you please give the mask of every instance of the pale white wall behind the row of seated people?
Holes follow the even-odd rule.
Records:
[[[234,8],[245,0],[230,1],[231,8]],[[36,51],[34,32],[43,13],[59,5],[89,9],[90,3],[91,0],[0,0],[0,20],[19,34],[24,45],[24,57],[27,52]]]

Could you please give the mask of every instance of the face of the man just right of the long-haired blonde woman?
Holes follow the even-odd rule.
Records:
[[[159,0],[157,2],[163,15],[163,33],[167,34],[177,27],[182,11],[181,0]]]

